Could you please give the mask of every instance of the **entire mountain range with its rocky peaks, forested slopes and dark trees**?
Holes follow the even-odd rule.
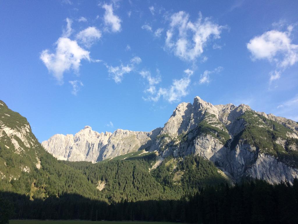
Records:
[[[0,101],[0,214],[295,223],[297,131],[295,121],[195,97],[150,132],[86,126],[41,144]]]

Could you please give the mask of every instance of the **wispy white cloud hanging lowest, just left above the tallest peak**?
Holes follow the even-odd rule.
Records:
[[[170,103],[181,100],[181,97],[188,94],[188,88],[191,82],[190,76],[193,74],[193,71],[187,69],[184,73],[186,74],[185,77],[181,79],[174,79],[172,85],[168,88],[159,88],[156,90],[156,87],[151,85],[147,90],[145,90],[146,93],[150,93],[150,96],[144,99],[156,102],[163,97]],[[145,75],[145,77],[148,77],[148,75]]]

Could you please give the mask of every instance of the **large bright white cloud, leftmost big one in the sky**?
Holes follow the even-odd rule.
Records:
[[[90,61],[90,52],[81,48],[76,41],[60,37],[56,42],[56,52],[49,53],[43,50],[40,59],[44,62],[49,72],[52,72],[57,81],[63,83],[63,73],[73,69],[78,72],[81,60]]]

